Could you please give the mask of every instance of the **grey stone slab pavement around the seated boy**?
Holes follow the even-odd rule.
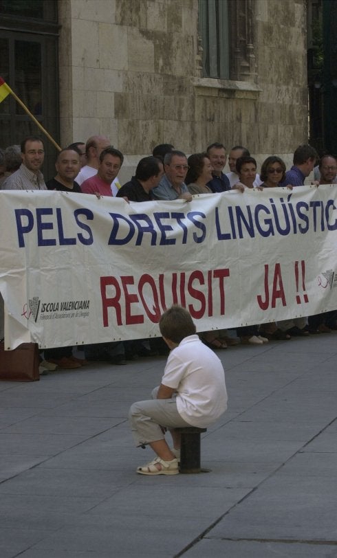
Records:
[[[129,405],[164,357],[0,382],[0,557],[337,557],[337,334],[218,352],[199,475],[135,473]]]

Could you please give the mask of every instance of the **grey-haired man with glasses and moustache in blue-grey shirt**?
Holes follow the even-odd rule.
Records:
[[[185,199],[191,201],[192,196],[184,183],[188,171],[187,157],[182,151],[173,150],[164,157],[165,174],[157,188],[153,188],[154,199]]]

